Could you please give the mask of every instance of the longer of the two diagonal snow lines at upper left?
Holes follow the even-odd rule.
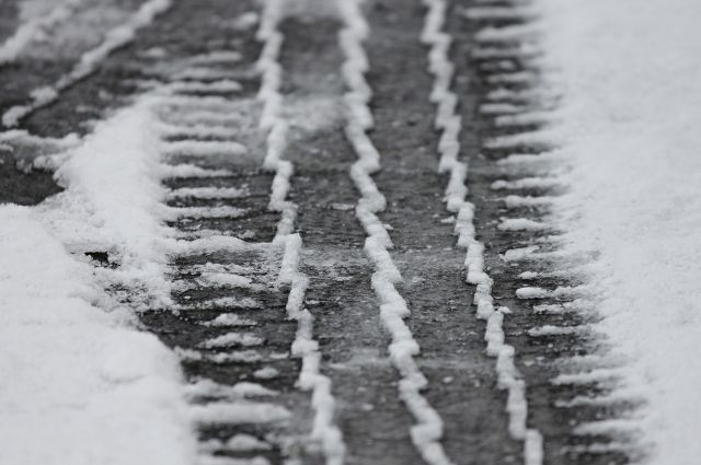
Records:
[[[85,51],[68,74],[62,75],[53,85],[35,89],[28,104],[13,106],[4,112],[2,124],[5,127],[18,126],[22,118],[55,102],[64,90],[92,74],[110,54],[131,42],[137,30],[150,24],[158,14],[168,10],[171,3],[172,0],[148,0],[141,4],[125,23],[107,32],[102,44]]]

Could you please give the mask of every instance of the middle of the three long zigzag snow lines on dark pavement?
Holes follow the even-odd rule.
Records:
[[[375,264],[372,289],[380,300],[380,318],[391,335],[390,359],[400,372],[399,395],[415,420],[411,428],[412,442],[423,460],[430,465],[451,465],[440,440],[444,423],[438,412],[428,404],[421,391],[428,381],[414,360],[420,347],[404,318],[410,310],[395,284],[402,276],[392,261],[388,248],[392,242],[377,213],[384,210],[386,199],[372,181],[371,174],[380,170],[380,154],[367,136],[372,127],[372,114],[368,106],[372,91],[365,79],[369,62],[363,42],[369,26],[360,9],[361,0],[338,2],[344,27],[340,33],[340,45],[345,54],[342,72],[348,92],[344,100],[347,106],[346,138],[358,155],[350,167],[350,177],[360,193],[356,217],[363,224],[367,239],[365,253]]]

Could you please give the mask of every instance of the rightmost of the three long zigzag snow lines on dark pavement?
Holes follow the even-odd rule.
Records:
[[[450,36],[443,32],[448,5],[445,0],[424,0],[424,4],[428,10],[421,39],[430,46],[428,71],[435,77],[430,101],[437,105],[436,128],[441,130],[438,170],[450,174],[445,201],[447,209],[457,213],[455,233],[458,235],[458,245],[468,248],[468,282],[476,286],[473,302],[476,305],[478,317],[487,321],[487,354],[496,357],[498,386],[508,393],[506,410],[509,416],[509,433],[514,439],[524,441],[525,463],[540,465],[543,461],[542,434],[527,427],[526,383],[519,379],[514,365],[514,347],[504,341],[503,321],[509,310],[494,309],[493,281],[484,271],[484,245],[475,239],[474,205],[466,200],[468,165],[457,158],[460,150],[461,121],[460,116],[456,114],[457,96],[450,90],[453,72],[453,65],[448,57]]]

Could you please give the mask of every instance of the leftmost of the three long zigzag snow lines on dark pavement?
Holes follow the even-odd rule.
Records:
[[[263,166],[275,172],[268,209],[278,211],[281,216],[273,243],[285,246],[278,283],[290,287],[286,311],[288,317],[298,324],[291,353],[302,360],[299,387],[312,392],[314,420],[311,439],[321,443],[326,465],[342,465],[345,444],[343,434],[334,422],[335,398],[331,380],[319,371],[321,353],[319,344],[313,339],[314,317],[303,307],[309,278],[299,271],[302,239],[292,233],[297,205],[287,200],[294,165],[281,159],[288,130],[287,121],[281,116],[283,96],[279,92],[281,67],[278,58],[284,36],[278,25],[283,18],[283,0],[266,0],[257,31],[257,38],[264,44],[256,65],[262,73],[258,98],[263,102],[263,112],[260,126],[267,131],[267,151]]]

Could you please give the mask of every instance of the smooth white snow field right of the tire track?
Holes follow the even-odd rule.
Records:
[[[573,172],[567,247],[596,251],[599,328],[647,406],[653,464],[701,460],[701,3],[540,0]],[[613,426],[613,425],[611,425]],[[620,426],[620,425],[619,425]]]

